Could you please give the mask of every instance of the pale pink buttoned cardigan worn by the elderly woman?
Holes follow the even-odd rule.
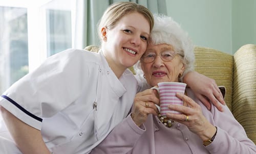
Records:
[[[218,127],[214,142],[208,146],[188,128],[176,123],[168,128],[160,120],[149,115],[144,125],[138,127],[127,116],[106,137],[93,153],[256,153],[255,144],[246,136],[242,125],[233,117],[228,107],[224,112],[211,105],[211,110],[196,98],[190,89],[186,89],[189,97],[193,98],[202,108],[202,112],[210,123]]]

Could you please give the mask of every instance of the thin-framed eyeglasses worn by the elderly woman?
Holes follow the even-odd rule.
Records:
[[[172,61],[175,57],[175,55],[180,55],[181,57],[184,57],[183,55],[181,54],[178,54],[172,50],[166,50],[164,52],[161,52],[160,54],[156,54],[156,53],[145,53],[142,57],[141,57],[141,60],[144,62],[144,63],[152,63],[155,61],[156,57],[158,55],[160,55],[160,58],[165,61],[165,62],[169,62],[169,61]]]

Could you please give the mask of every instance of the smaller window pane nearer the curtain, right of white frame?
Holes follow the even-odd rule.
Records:
[[[71,12],[46,10],[48,56],[71,48]]]

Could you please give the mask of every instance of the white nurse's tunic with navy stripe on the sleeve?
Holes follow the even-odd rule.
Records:
[[[133,73],[117,79],[101,51],[67,49],[14,83],[0,105],[41,130],[52,153],[89,153],[127,116],[136,91]],[[0,132],[0,153],[19,153],[6,134]]]

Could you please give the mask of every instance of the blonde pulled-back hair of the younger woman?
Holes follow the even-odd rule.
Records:
[[[108,7],[98,23],[98,36],[101,40],[101,28],[113,29],[116,23],[126,14],[138,12],[150,23],[150,32],[154,26],[153,14],[146,7],[133,2],[117,2]]]

